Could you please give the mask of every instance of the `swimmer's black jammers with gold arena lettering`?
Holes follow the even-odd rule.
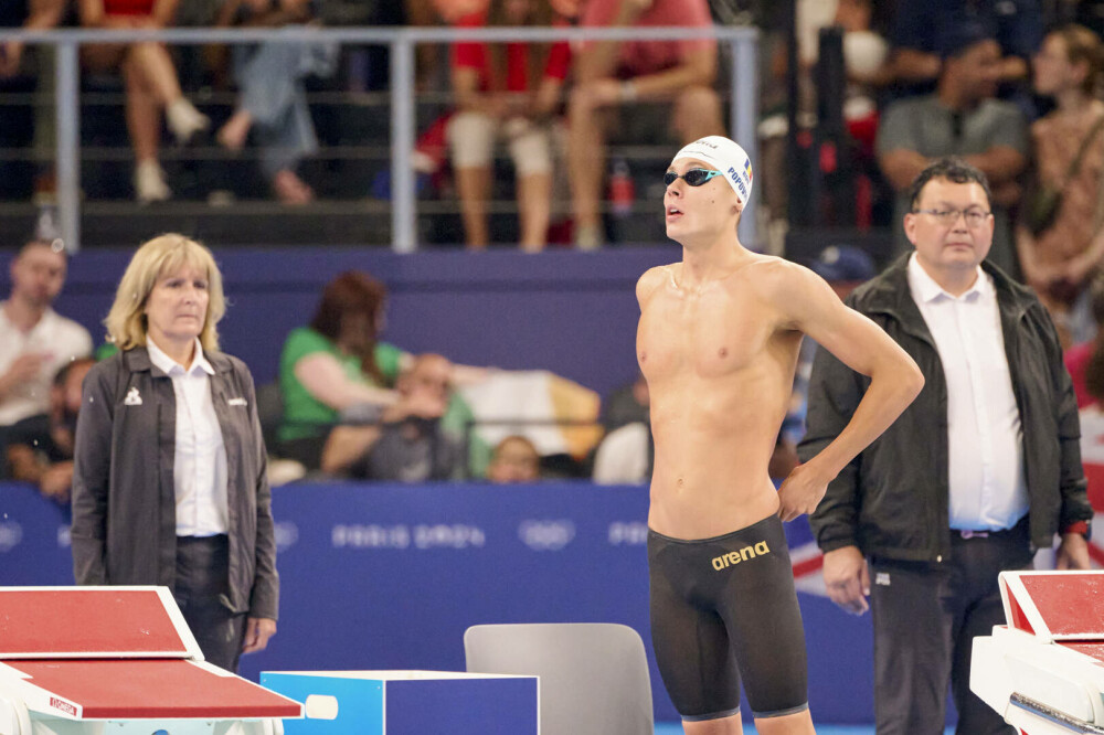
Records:
[[[683,541],[648,533],[651,638],[683,720],[808,709],[805,630],[782,521]]]

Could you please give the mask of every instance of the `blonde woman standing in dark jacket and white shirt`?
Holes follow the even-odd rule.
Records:
[[[219,352],[210,251],[161,235],[105,320],[119,351],[84,382],[73,473],[82,585],[164,585],[208,661],[235,671],[276,632],[279,580],[253,377]]]

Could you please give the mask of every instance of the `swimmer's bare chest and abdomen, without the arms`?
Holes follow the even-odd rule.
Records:
[[[687,294],[665,284],[637,332],[656,443],[649,523],[677,537],[760,520],[776,503],[767,466],[800,334],[740,281],[720,286]]]

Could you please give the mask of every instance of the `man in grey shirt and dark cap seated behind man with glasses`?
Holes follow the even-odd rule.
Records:
[[[1017,178],[1028,162],[1028,129],[1011,103],[994,99],[1000,75],[1000,47],[979,22],[948,29],[936,92],[890,105],[878,130],[878,162],[896,192],[894,221],[909,211],[909,189],[928,163],[959,156],[980,169],[992,189],[996,232],[989,262],[1019,278],[1009,207],[1020,199]],[[910,248],[904,230],[894,228],[894,249]]]

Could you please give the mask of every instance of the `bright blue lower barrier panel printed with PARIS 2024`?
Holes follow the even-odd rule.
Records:
[[[654,660],[647,505],[644,487],[582,482],[277,488],[279,631],[242,673],[463,671],[464,630],[480,622],[622,622]],[[30,487],[0,484],[0,585],[72,584],[67,523]],[[799,597],[816,721],[871,722],[869,616]],[[657,720],[677,720],[651,677]]]

